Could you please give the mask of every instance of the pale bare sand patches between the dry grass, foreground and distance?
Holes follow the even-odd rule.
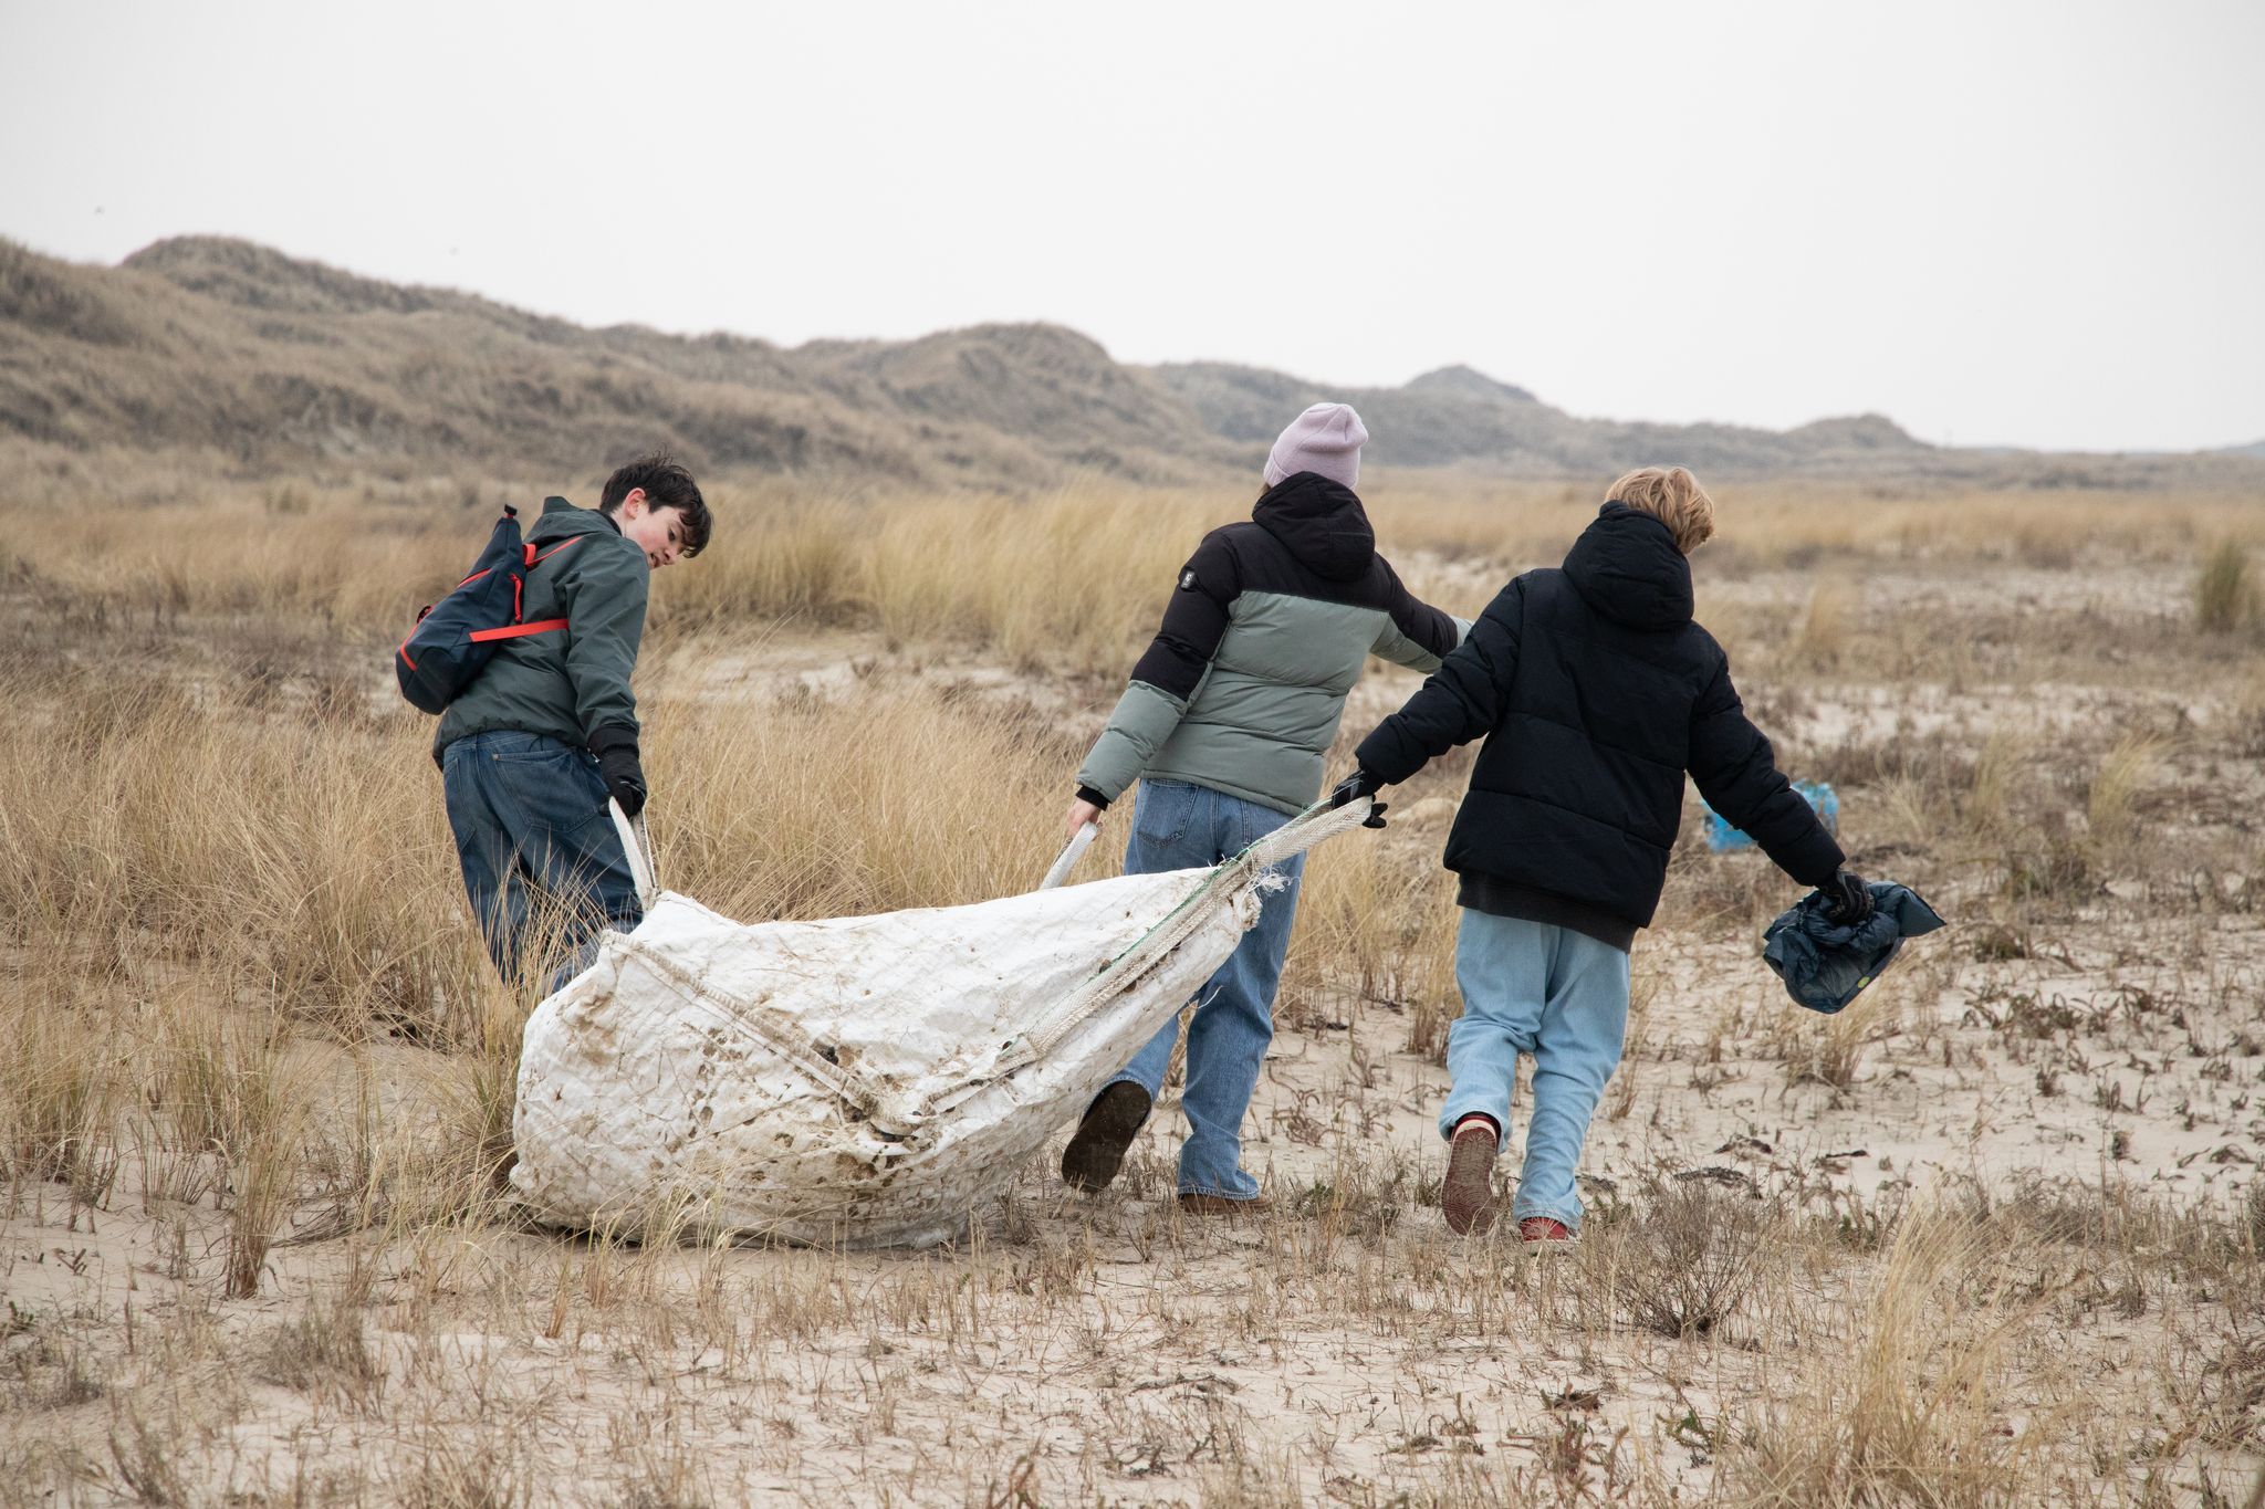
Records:
[[[2000,726],[2050,740],[2102,719],[2206,733],[2226,715],[2220,685],[2145,674],[2161,586],[2136,568],[1875,575],[1866,611],[1964,615],[1977,633],[1998,611],[2100,620],[2134,636],[2138,663],[2082,685],[1776,676],[1758,706],[1776,699],[1805,751],[1975,747]],[[1767,575],[1719,595],[1796,602]],[[686,649],[657,670],[704,697],[949,681],[1058,699],[1085,724],[1108,701],[861,636]],[[1348,726],[1411,685],[1370,679]],[[2181,796],[2181,781],[2215,796]],[[2220,857],[2258,855],[2254,760],[2186,751],[2156,787],[2154,821]],[[1862,803],[1844,824],[1864,862]],[[1420,869],[1438,837],[1434,808],[1382,842]],[[2215,864],[2204,891],[2179,866],[2111,876],[2029,919],[1964,855],[1873,851],[1880,876],[1925,876],[1952,928],[1841,1018],[1794,1007],[1760,962],[1760,921],[1792,889],[1749,873],[1758,855],[1681,855],[1683,896],[1755,900],[1638,946],[1631,1047],[1583,1163],[1592,1219],[1703,1183],[1848,1238],[1830,1258],[1787,1256],[1710,1335],[1633,1323],[1592,1256],[1450,1238],[1429,1188],[1447,1079],[1411,1052],[1411,1009],[1305,991],[1280,1002],[1246,1129],[1275,1199],[1259,1222],[1171,1206],[1169,1095],[1108,1195],[1062,1192],[1049,1154],[963,1244],[929,1253],[639,1251],[426,1226],[279,1247],[263,1294],[224,1301],[211,1201],[88,1213],[61,1188],[34,1192],[0,1228],[0,1346],[20,1380],[0,1437],[23,1461],[86,1464],[82,1502],[1699,1502],[1726,1432],[1814,1407],[1819,1369],[1864,1344],[1884,1262],[1864,1235],[1880,1222],[2063,1183],[2224,1213],[2265,1161],[2254,862]],[[396,1111],[426,1093],[421,1050],[306,1052],[340,1120],[358,1077]],[[136,1188],[131,1170],[120,1188]],[[2059,1317],[2050,1346],[2009,1344],[2014,1382],[1993,1405],[2009,1437],[2043,1421],[2063,1443],[2111,1441],[2122,1455],[2097,1480],[2120,1486],[2097,1502],[2240,1502],[2265,1468],[2258,1409],[2208,1450],[2181,1446],[2154,1489],[2131,1443],[2170,1430],[2181,1394],[2215,1387],[2229,1337],[2265,1348],[2256,1314],[2147,1251],[2113,1271],[2029,1249],[2002,1267]],[[340,1292],[367,1305],[367,1355],[306,1362],[294,1337]],[[25,1484],[11,1493],[41,1502]]]

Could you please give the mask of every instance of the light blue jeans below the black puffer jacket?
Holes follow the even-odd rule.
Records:
[[[1629,1029],[1629,955],[1574,932],[1463,909],[1454,939],[1463,1016],[1447,1029],[1447,1104],[1438,1133],[1481,1111],[1504,1136],[1518,1054],[1533,1057],[1527,1165],[1511,1219],[1547,1215],[1581,1228],[1574,1167],[1604,1081],[1619,1066]]]

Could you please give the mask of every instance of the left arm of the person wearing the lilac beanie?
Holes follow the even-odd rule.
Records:
[[[1110,726],[1078,767],[1078,796],[1069,803],[1065,824],[1071,833],[1123,796],[1180,726],[1187,704],[1212,670],[1212,656],[1228,633],[1228,615],[1239,593],[1234,552],[1219,532],[1212,532],[1180,568],[1171,602],[1164,604],[1162,627],[1132,665],[1132,679],[1110,713]]]

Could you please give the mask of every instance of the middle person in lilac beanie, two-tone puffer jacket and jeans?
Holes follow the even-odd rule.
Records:
[[[1139,781],[1128,873],[1219,864],[1287,824],[1320,794],[1323,756],[1368,656],[1438,670],[1470,627],[1418,602],[1377,554],[1352,491],[1366,441],[1350,405],[1309,407],[1266,457],[1250,523],[1212,529],[1180,570],[1067,812],[1076,833]],[[1262,1204],[1241,1167],[1241,1124],[1273,1041],[1302,855],[1277,873],[1282,889],[1203,986],[1187,1027],[1178,1183],[1196,1215]],[[1087,1106],[1062,1154],[1074,1188],[1096,1192],[1117,1176],[1178,1034],[1178,1020],[1164,1023]]]

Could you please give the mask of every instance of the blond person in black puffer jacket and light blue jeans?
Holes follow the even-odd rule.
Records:
[[[1447,1034],[1454,1081],[1441,1204],[1454,1231],[1493,1222],[1493,1165],[1518,1054],[1533,1057],[1533,1115],[1513,1217],[1529,1242],[1581,1226],[1574,1167],[1619,1063],[1629,946],[1651,923],[1683,821],[1683,774],[1794,880],[1844,916],[1869,907],[1857,876],[1746,722],[1730,661],[1692,622],[1687,552],[1715,505],[1676,468],[1613,484],[1563,570],[1515,577],[1463,645],[1354,758],[1339,803],[1407,781],[1486,738],[1447,837],[1461,876]]]

